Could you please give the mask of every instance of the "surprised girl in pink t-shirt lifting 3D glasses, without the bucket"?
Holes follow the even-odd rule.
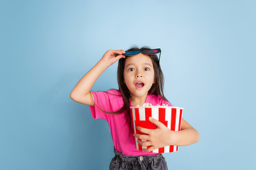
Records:
[[[160,49],[134,47],[127,51],[107,50],[102,59],[75,86],[70,98],[90,106],[92,118],[102,118],[110,125],[114,142],[115,157],[110,162],[110,169],[168,169],[162,154],[151,151],[168,145],[186,146],[199,140],[198,132],[182,120],[181,131],[171,131],[158,120],[149,118],[157,128],[154,130],[137,127],[147,135],[134,134],[131,126],[130,106],[143,103],[162,105],[171,103],[164,97],[164,75],[161,72]],[[100,74],[118,63],[117,81],[119,89],[109,91],[90,91]],[[135,148],[134,136],[144,152]]]

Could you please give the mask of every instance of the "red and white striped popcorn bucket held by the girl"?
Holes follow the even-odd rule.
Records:
[[[137,130],[137,126],[147,129],[156,129],[156,125],[149,121],[149,117],[159,120],[167,128],[173,131],[181,130],[182,122],[182,112],[184,108],[178,108],[173,106],[134,106],[130,107],[132,112],[132,123],[134,127],[134,132],[137,134],[144,134]],[[134,137],[136,149],[142,151],[142,149],[147,149],[149,147],[142,147],[137,142],[138,138]],[[140,139],[139,139],[140,140]],[[146,140],[141,140],[146,142]],[[178,146],[170,145],[166,147],[161,147],[159,149],[154,149],[154,153],[166,153],[166,152],[176,152],[178,151]]]

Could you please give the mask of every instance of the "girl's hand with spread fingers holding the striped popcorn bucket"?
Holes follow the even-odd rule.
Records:
[[[166,126],[159,122],[158,120],[154,118],[149,118],[149,121],[151,123],[154,123],[156,125],[156,129],[146,129],[142,127],[137,127],[137,130],[146,133],[147,135],[139,135],[134,134],[135,137],[146,140],[146,142],[142,142],[140,140],[137,140],[139,145],[142,145],[143,147],[149,147],[149,149],[143,149],[144,152],[151,152],[154,149],[157,149],[159,147],[166,147],[168,145],[174,145],[176,140],[176,132],[169,130],[169,128],[166,128]]]

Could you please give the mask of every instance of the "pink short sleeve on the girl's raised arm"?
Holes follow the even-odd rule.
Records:
[[[110,91],[92,91],[95,106],[90,106],[92,118],[107,120],[109,113],[119,111],[123,106],[122,96],[117,90]]]

